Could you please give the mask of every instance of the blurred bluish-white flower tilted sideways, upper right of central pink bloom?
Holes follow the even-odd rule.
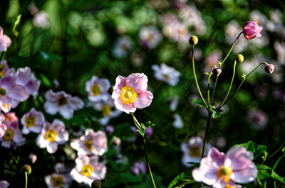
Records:
[[[152,65],[152,70],[155,72],[156,79],[166,82],[171,86],[176,86],[179,82],[180,72],[173,67],[165,65],[165,63],[162,63],[160,66]]]

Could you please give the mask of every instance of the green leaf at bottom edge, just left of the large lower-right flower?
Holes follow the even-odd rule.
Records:
[[[182,172],[180,175],[177,175],[175,179],[172,180],[168,188],[181,188],[184,187],[186,184],[192,184],[196,181],[192,177],[192,170],[195,168],[190,167],[189,169],[185,170],[185,172]]]

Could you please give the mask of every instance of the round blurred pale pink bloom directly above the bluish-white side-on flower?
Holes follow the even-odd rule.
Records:
[[[140,28],[140,42],[146,48],[153,49],[162,40],[160,31],[155,26],[147,26]]]

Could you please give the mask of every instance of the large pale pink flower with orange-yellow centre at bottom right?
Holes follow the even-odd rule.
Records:
[[[252,182],[257,177],[257,167],[252,159],[253,154],[243,147],[232,148],[226,155],[211,148],[199,168],[192,171],[192,176],[197,182],[215,188],[232,188],[236,186],[234,182]]]

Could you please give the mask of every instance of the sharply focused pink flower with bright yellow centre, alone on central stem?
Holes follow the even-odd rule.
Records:
[[[143,73],[133,73],[128,77],[118,76],[112,98],[115,106],[127,114],[150,106],[153,95],[147,91],[147,76]]]

